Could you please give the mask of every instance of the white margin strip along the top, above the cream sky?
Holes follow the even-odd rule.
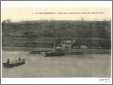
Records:
[[[112,1],[2,1],[1,3],[1,7],[66,7],[66,6],[110,7],[112,6]]]

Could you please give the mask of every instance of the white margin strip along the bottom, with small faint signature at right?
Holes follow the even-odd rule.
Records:
[[[3,78],[2,84],[112,84],[112,78]]]

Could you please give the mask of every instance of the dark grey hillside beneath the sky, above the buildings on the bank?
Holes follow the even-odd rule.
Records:
[[[47,39],[74,38],[102,39],[104,42],[99,42],[99,45],[110,48],[110,28],[111,21],[4,21],[3,47],[24,47],[27,43],[37,44],[44,39],[46,42]]]

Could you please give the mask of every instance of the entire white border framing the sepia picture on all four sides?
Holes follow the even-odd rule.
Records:
[[[64,6],[108,6],[112,7],[112,1],[1,1],[1,7],[64,7]],[[37,5],[39,4],[39,5]],[[87,5],[89,4],[89,5]],[[96,4],[96,5],[95,5]],[[112,22],[111,22],[112,27]],[[1,26],[2,28],[2,26]],[[2,41],[2,29],[1,29],[1,41]],[[112,47],[112,28],[111,28],[111,47]],[[112,51],[112,48],[111,48]],[[112,55],[112,52],[111,52]],[[1,56],[2,56],[2,42],[1,42]],[[112,57],[111,57],[112,62]],[[2,57],[1,57],[1,67],[2,67]],[[112,65],[111,65],[112,68]],[[1,68],[2,70],[2,68]],[[2,71],[1,71],[2,74]],[[112,69],[111,69],[112,74]],[[2,78],[2,84],[112,84],[111,78]]]

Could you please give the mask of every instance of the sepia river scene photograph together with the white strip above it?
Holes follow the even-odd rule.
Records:
[[[2,78],[111,78],[111,2],[3,1],[1,15]]]

